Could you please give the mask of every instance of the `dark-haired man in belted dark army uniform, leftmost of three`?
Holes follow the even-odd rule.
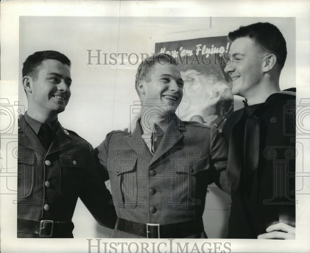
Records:
[[[72,238],[78,197],[101,225],[114,228],[108,175],[91,144],[57,119],[71,95],[70,65],[57,51],[35,52],[24,62],[28,109],[18,122],[17,237]]]

